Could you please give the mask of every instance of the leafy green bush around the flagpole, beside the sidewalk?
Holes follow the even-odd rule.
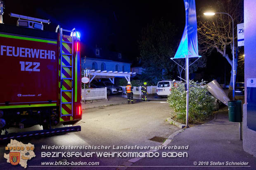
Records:
[[[201,123],[213,116],[215,99],[201,83],[190,81],[189,89],[189,123]],[[177,83],[171,87],[171,94],[167,99],[169,106],[174,110],[172,119],[180,123],[186,122],[186,91],[184,84]]]

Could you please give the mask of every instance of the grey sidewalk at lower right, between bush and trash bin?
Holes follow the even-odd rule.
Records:
[[[212,121],[185,129],[173,138],[167,146],[187,146],[189,149],[159,149],[159,158],[142,158],[132,164],[132,166],[190,166],[175,167],[175,170],[230,170],[230,169],[256,169],[256,158],[243,150],[242,140],[238,137],[238,123],[228,121],[228,108],[221,109],[216,118]],[[187,152],[187,157],[163,158],[162,152]],[[223,167],[223,165],[215,167],[198,167],[194,166],[199,162],[248,162],[250,167]],[[195,163],[196,162],[196,163]],[[247,166],[248,166],[247,165]],[[221,167],[222,166],[222,167]],[[162,167],[170,169],[170,167]],[[161,168],[161,169],[162,169]],[[129,168],[128,168],[129,169]],[[134,168],[130,168],[134,169]]]

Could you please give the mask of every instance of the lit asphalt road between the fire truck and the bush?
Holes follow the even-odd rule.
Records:
[[[79,152],[102,152],[102,151],[127,151],[124,149],[116,150],[113,146],[158,146],[160,142],[154,142],[152,137],[168,137],[173,132],[179,130],[178,127],[166,122],[169,116],[170,108],[166,102],[137,102],[135,104],[115,105],[109,107],[100,107],[87,109],[83,112],[83,119],[78,125],[81,126],[81,132],[67,133],[51,137],[39,137],[21,139],[24,144],[30,142],[35,145],[36,157],[28,160],[27,169],[52,169],[53,167],[31,167],[40,166],[43,161],[83,161],[83,162],[100,162],[100,166],[122,165],[123,162],[130,158],[42,158],[41,153],[44,151],[79,151]],[[31,130],[38,130],[40,126],[35,126]],[[0,169],[14,169],[14,166],[6,163],[3,157],[7,142],[0,144]],[[42,149],[42,145],[56,146],[107,146],[109,149]],[[148,151],[149,149],[134,149],[132,151]],[[88,168],[88,167],[85,167]],[[95,169],[97,167],[94,167]],[[116,167],[108,167],[108,169]],[[15,169],[24,169],[16,165]],[[54,169],[63,169],[63,167],[54,167]],[[66,167],[65,169],[71,169]],[[72,169],[82,169],[73,167]],[[84,168],[83,168],[84,169]],[[93,169],[93,168],[88,168]],[[102,167],[101,167],[102,169]]]

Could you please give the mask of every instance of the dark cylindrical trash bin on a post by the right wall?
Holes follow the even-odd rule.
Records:
[[[242,122],[242,100],[228,101],[228,120]]]

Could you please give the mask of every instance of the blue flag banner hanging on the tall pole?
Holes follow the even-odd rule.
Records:
[[[186,26],[174,58],[201,57],[198,55],[197,14],[194,0],[184,0]]]

